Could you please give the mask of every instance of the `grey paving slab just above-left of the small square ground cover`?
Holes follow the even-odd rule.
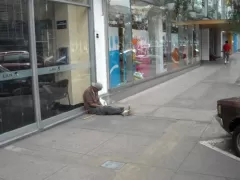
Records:
[[[68,128],[64,125],[26,139],[27,143],[86,154],[116,136],[114,133]]]

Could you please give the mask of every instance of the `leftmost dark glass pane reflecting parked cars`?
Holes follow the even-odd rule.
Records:
[[[35,122],[27,1],[1,3],[0,134]]]

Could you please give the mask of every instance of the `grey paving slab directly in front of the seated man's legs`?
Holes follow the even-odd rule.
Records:
[[[81,127],[112,133],[161,136],[164,130],[174,123],[167,118],[154,118],[145,116],[95,116],[86,121],[73,121],[67,126]]]

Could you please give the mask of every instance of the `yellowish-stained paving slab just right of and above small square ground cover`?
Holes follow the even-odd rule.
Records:
[[[177,170],[195,145],[196,141],[168,133],[155,140],[149,137],[118,135],[89,155]]]

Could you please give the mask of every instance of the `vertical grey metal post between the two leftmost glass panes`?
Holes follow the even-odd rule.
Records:
[[[29,26],[29,46],[30,46],[30,61],[32,68],[32,89],[33,89],[33,102],[35,111],[35,120],[37,127],[41,127],[41,108],[38,87],[38,67],[37,67],[37,51],[36,51],[36,38],[35,38],[35,20],[34,20],[34,0],[28,0],[28,26]]]

